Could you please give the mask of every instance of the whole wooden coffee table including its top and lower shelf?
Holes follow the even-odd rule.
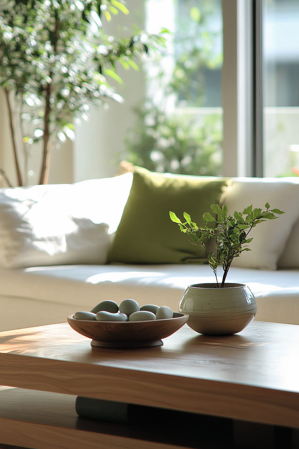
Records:
[[[78,418],[74,401],[80,395],[234,420],[238,444],[246,423],[268,425],[269,440],[273,426],[292,429],[289,447],[299,447],[299,326],[253,321],[237,335],[207,337],[185,325],[154,348],[95,348],[90,341],[67,323],[0,333],[0,383],[19,387],[0,391],[1,443],[36,449],[233,447],[213,445],[212,438],[178,444],[163,429],[153,431],[155,423],[147,431]]]

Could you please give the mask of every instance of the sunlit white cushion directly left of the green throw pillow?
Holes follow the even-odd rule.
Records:
[[[0,189],[0,265],[105,264],[132,178]]]

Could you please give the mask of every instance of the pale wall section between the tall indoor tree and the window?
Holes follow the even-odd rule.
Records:
[[[128,16],[119,13],[110,23],[103,18],[104,31],[119,35],[119,26],[132,29],[137,24],[144,29],[144,7],[140,0],[128,0]],[[124,98],[124,103],[109,102],[109,110],[94,107],[88,122],[76,128],[74,142],[74,181],[113,176],[118,173],[118,153],[125,149],[124,138],[133,125],[133,106],[139,104],[145,95],[145,80],[141,70],[117,68],[124,84],[119,86],[112,79],[111,85]]]

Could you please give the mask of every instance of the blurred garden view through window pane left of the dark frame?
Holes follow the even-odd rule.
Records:
[[[147,93],[121,159],[156,172],[219,176],[221,0],[147,0],[146,11],[147,31],[167,27],[168,45],[145,65]]]

